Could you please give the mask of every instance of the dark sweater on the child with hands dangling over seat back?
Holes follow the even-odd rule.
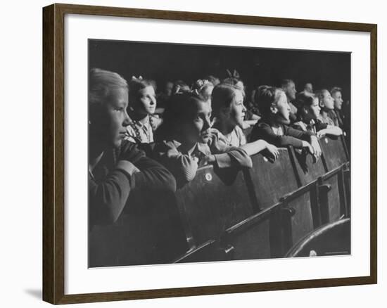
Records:
[[[281,129],[283,134],[276,134],[273,127]],[[262,118],[253,127],[250,134],[250,141],[263,139],[278,147],[293,146],[295,148],[302,148],[302,141],[310,142],[310,136],[312,135],[310,131],[293,129],[286,124],[272,124]]]

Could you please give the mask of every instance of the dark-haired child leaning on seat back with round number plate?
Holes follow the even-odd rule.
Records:
[[[201,165],[252,167],[245,150],[229,146],[211,128],[210,103],[197,92],[176,94],[165,110],[156,134],[154,157],[175,176],[181,187],[194,179]]]

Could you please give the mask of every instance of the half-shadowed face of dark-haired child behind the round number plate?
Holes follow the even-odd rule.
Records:
[[[208,102],[196,101],[189,118],[182,124],[184,141],[207,143],[210,139],[211,107]]]

